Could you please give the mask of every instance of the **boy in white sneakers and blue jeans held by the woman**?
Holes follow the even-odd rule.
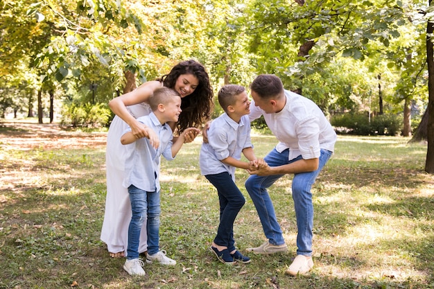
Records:
[[[149,105],[153,112],[139,117],[137,121],[146,125],[147,130],[152,130],[147,136],[150,139],[136,139],[130,129],[121,137],[121,143],[128,146],[123,186],[128,188],[132,209],[128,227],[128,254],[123,269],[130,275],[139,276],[146,274],[142,268],[144,262],[139,259],[139,237],[145,220],[148,234],[146,263],[157,261],[164,265],[176,264],[176,261],[166,256],[166,252],[159,250],[160,156],[172,160],[182,147],[185,134],[191,130],[200,132],[196,128],[187,128],[173,141],[173,132],[168,122],[176,123],[182,111],[181,97],[173,89],[156,89],[149,99]]]

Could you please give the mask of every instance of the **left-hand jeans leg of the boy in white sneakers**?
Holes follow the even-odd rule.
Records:
[[[139,239],[141,226],[146,220],[146,191],[131,185],[130,194],[132,217],[128,227],[128,260],[139,258]]]

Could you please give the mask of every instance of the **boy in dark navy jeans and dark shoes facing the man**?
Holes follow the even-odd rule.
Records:
[[[208,131],[208,143],[200,149],[200,171],[213,184],[220,202],[220,224],[210,249],[222,263],[250,263],[234,245],[234,221],[245,203],[235,184],[235,168],[246,170],[266,166],[257,159],[250,141],[250,101],[245,88],[225,85],[218,91],[218,102],[225,113],[215,119]],[[249,162],[241,161],[241,152]]]

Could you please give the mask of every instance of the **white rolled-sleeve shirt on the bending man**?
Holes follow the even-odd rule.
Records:
[[[324,113],[309,98],[285,90],[286,104],[283,110],[267,114],[260,107],[250,103],[250,121],[261,115],[268,128],[279,140],[276,150],[282,152],[289,148],[288,159],[302,155],[303,159],[320,157],[320,149],[331,152],[336,143],[336,132]]]

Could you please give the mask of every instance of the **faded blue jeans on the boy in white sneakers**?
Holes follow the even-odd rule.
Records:
[[[159,191],[147,192],[138,189],[134,185],[128,187],[132,217],[128,227],[128,260],[139,258],[140,230],[146,221],[148,233],[148,254],[156,254],[159,251]]]

